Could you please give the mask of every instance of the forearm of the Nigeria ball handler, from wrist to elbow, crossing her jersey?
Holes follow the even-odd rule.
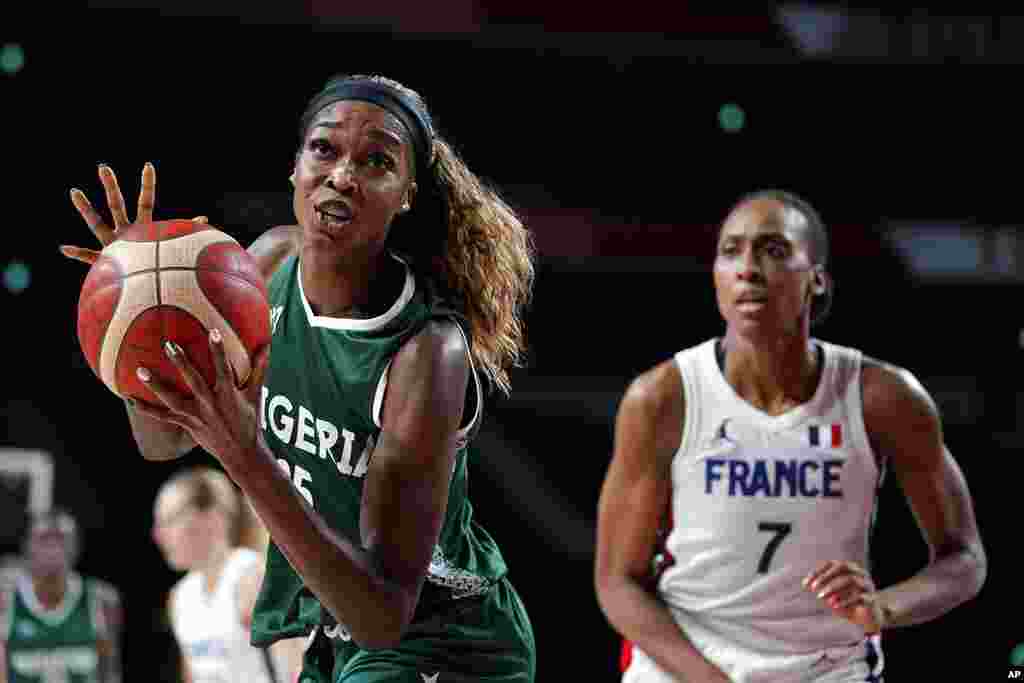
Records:
[[[292,486],[262,439],[228,473],[250,498],[274,545],[303,583],[360,647],[397,643],[412,608],[396,585],[376,575],[372,558],[335,532]]]

